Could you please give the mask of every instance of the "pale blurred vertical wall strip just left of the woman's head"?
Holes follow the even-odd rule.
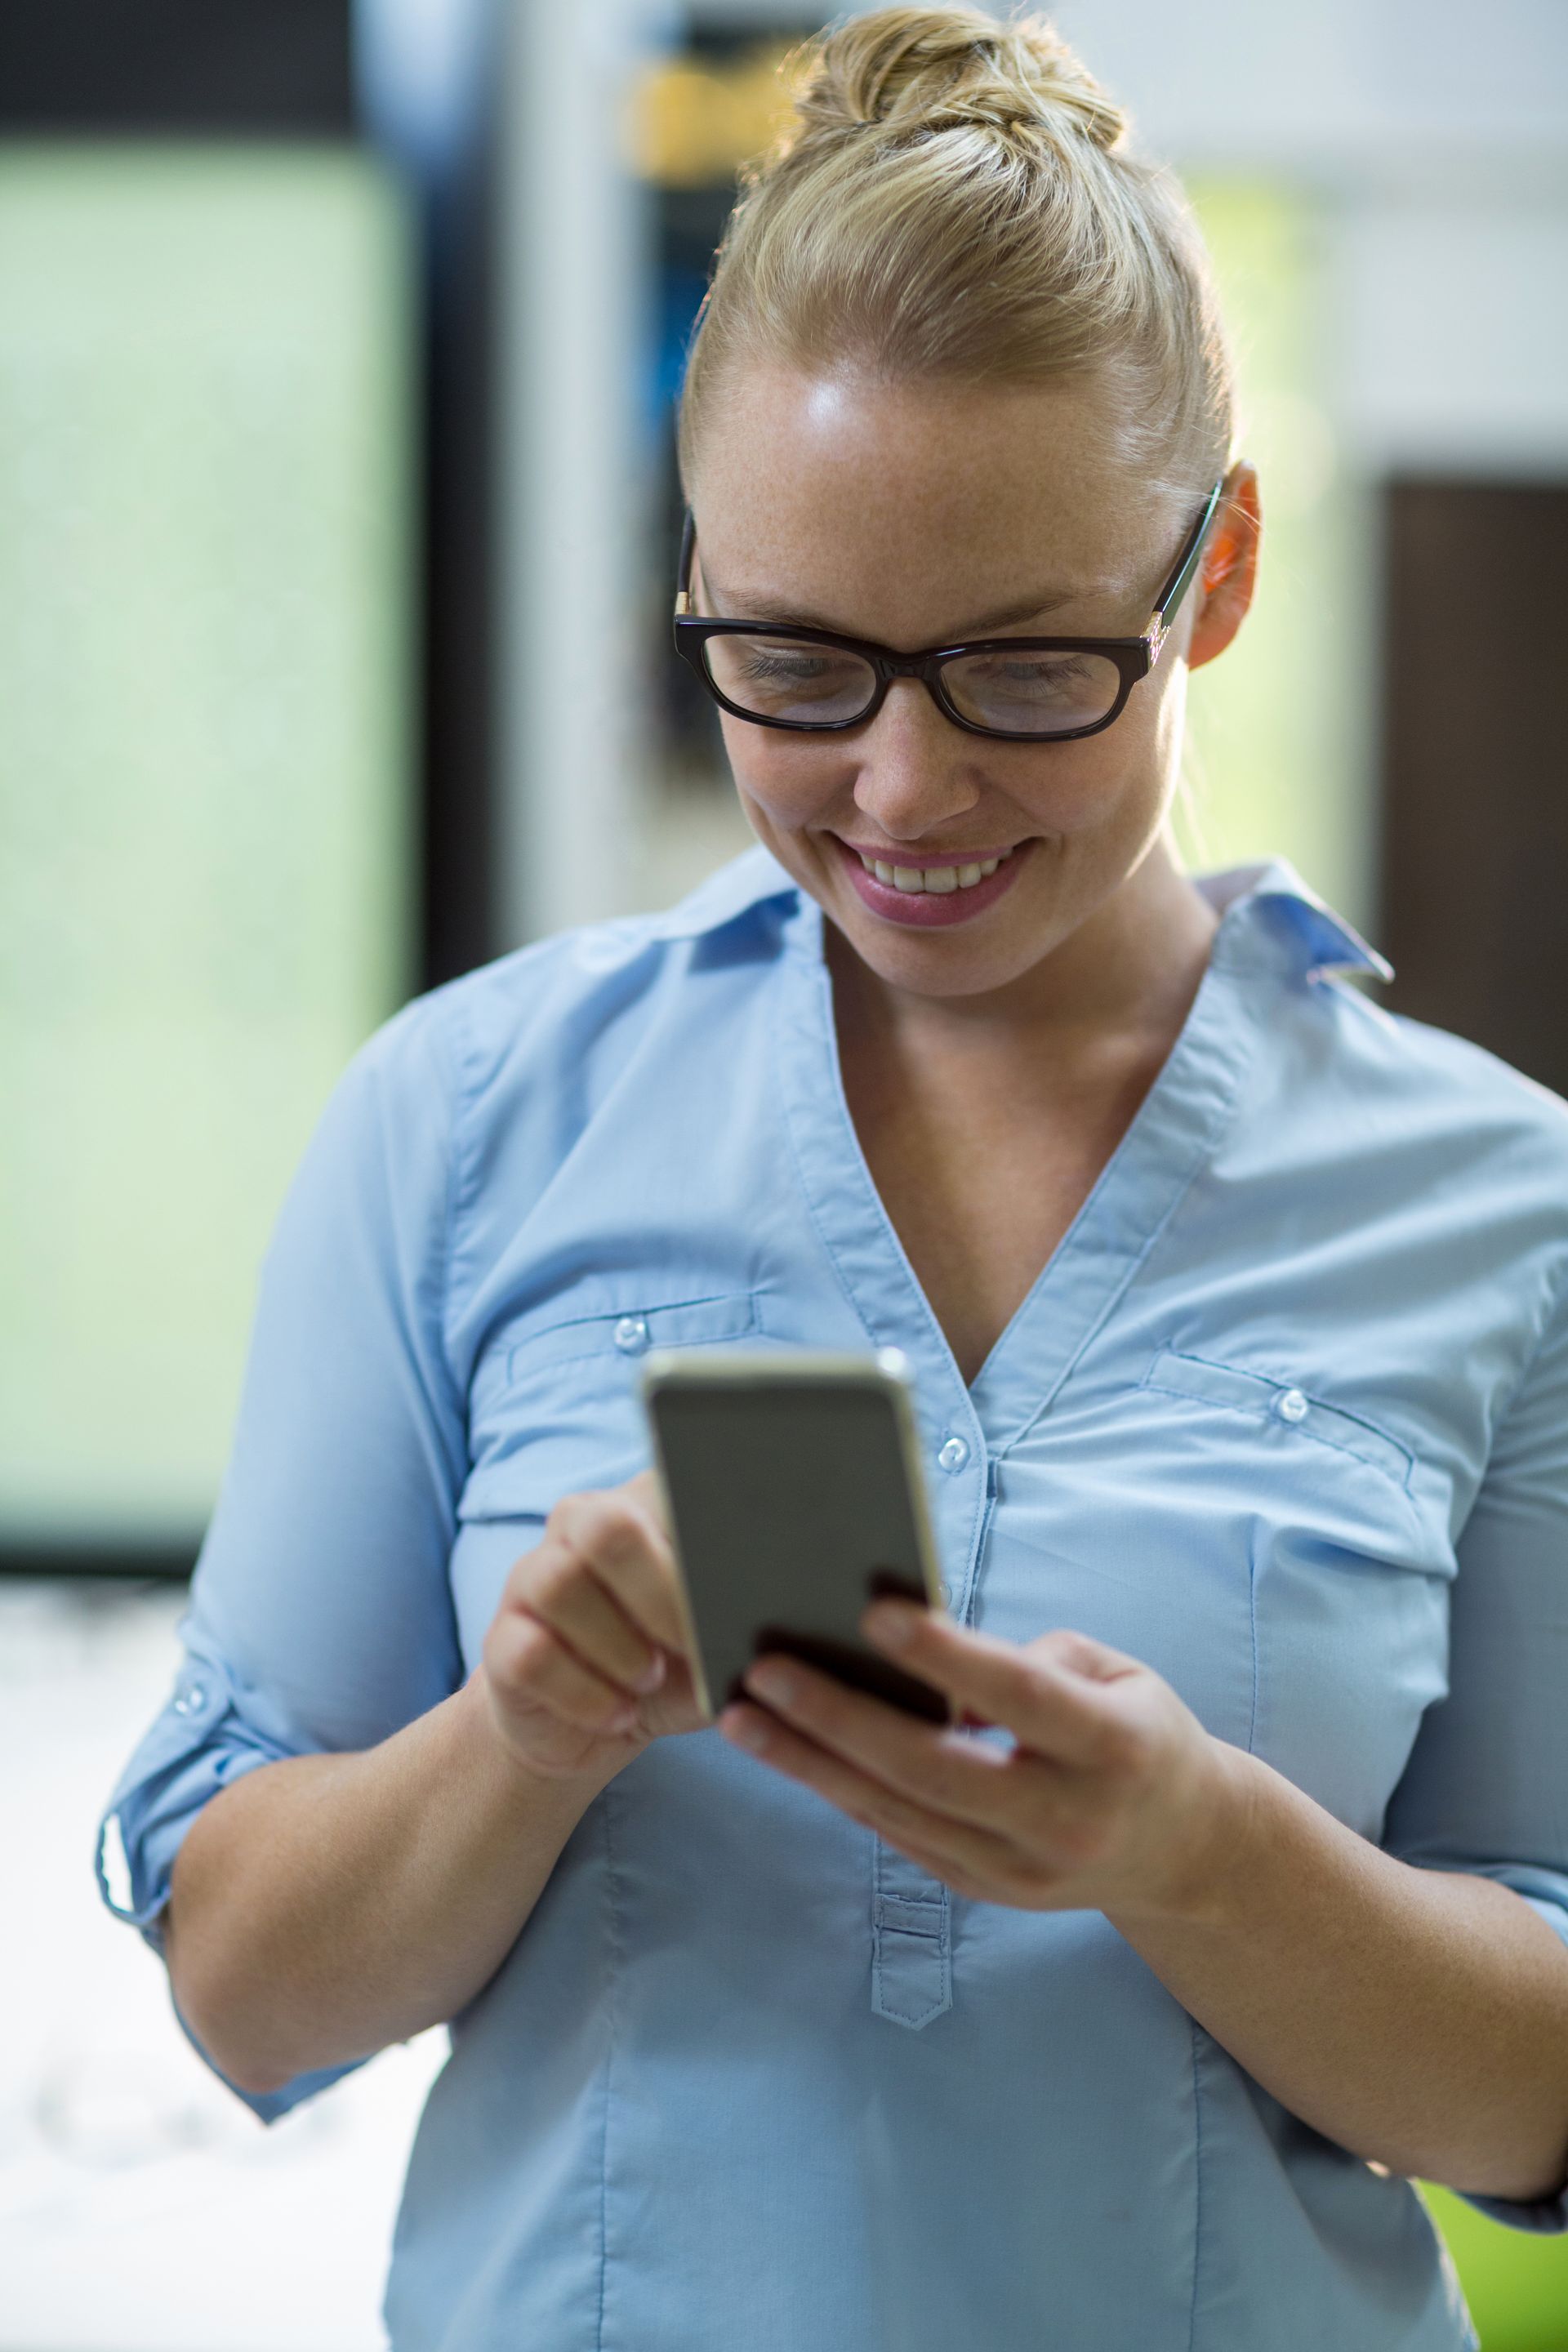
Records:
[[[661,0],[512,0],[503,200],[501,701],[508,941],[614,913],[639,821],[635,463],[644,205],[623,162]]]

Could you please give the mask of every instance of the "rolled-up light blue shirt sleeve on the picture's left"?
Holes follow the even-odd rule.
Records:
[[[179,1846],[242,1773],[374,1748],[463,1679],[449,1590],[465,1418],[447,1355],[449,990],[353,1058],[261,1268],[235,1439],[179,1621],[174,1689],[103,1809],[103,1903],[162,1957]],[[118,1842],[115,1889],[106,1844]],[[353,2072],[233,2084],[263,2122]]]

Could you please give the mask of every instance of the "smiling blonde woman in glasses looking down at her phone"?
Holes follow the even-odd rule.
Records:
[[[825,40],[682,463],[759,847],[343,1077],[129,1917],[263,2119],[451,2023],[395,2352],[1472,2345],[1403,2176],[1568,2218],[1568,1122],[1178,870],[1258,489],[1048,28]],[[910,1355],[952,1606],[867,1632],[1011,1743],[698,1724],[654,1341]]]

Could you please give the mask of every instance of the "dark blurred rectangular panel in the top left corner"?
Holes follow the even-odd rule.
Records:
[[[0,132],[353,132],[350,0],[9,0]]]

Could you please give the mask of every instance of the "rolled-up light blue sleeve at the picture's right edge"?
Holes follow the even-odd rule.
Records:
[[[1497,1430],[1458,1543],[1448,1696],[1418,1733],[1385,1846],[1512,1886],[1568,1945],[1568,1301]],[[1568,2230],[1568,2187],[1469,2197],[1514,2230]]]

